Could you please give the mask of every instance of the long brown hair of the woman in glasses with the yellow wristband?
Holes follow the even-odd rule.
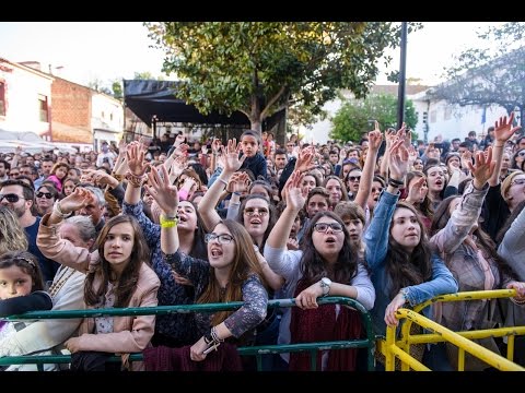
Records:
[[[254,242],[246,228],[233,219],[224,219],[219,224],[224,225],[228,230],[230,230],[234,238],[233,241],[235,242],[235,257],[233,258],[232,270],[228,277],[226,290],[222,294],[219,282],[215,279],[213,267],[210,266],[212,271],[210,281],[197,300],[197,303],[242,301],[243,284],[248,278],[248,275],[254,273],[259,276],[260,282],[268,288],[262,275],[262,269],[254,251]],[[211,320],[212,325],[218,325],[232,312],[233,311],[215,312]]]

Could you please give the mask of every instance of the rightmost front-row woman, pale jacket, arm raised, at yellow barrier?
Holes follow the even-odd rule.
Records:
[[[462,196],[445,199],[436,210],[432,223],[431,242],[444,257],[447,266],[459,284],[460,291],[515,288],[517,300],[525,300],[525,283],[516,282],[514,272],[497,254],[495,245],[479,223],[488,180],[495,171],[492,146],[476,152],[476,165],[467,163],[474,181]],[[499,169],[498,169],[499,170]],[[456,332],[493,329],[502,321],[497,300],[452,301],[443,303],[441,323]],[[479,344],[499,353],[492,337]],[[457,348],[447,345],[451,361],[457,364]],[[481,370],[488,365],[466,356],[465,370]]]

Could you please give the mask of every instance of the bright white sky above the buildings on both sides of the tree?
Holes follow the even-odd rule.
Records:
[[[476,41],[479,27],[501,22],[425,22],[408,35],[407,78],[422,84],[443,81],[452,56]],[[13,62],[38,61],[42,70],[88,85],[98,80],[132,79],[136,72],[162,73],[163,52],[141,22],[0,22],[0,58]],[[390,69],[399,68],[399,49],[390,51]],[[376,83],[385,83],[382,73]]]

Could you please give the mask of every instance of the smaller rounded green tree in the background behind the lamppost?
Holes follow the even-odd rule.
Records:
[[[334,128],[330,138],[359,142],[363,132],[374,129],[373,120],[378,121],[381,130],[388,127],[397,129],[397,97],[392,94],[371,94],[365,99],[348,99],[331,119]],[[410,99],[405,103],[405,123],[412,130],[418,123]],[[417,138],[417,134],[412,134],[412,140]]]

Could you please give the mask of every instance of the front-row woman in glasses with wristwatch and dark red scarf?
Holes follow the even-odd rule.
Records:
[[[306,202],[301,189],[302,175],[292,174],[287,184],[287,207],[271,230],[265,258],[271,269],[285,279],[284,298],[295,297],[299,308],[285,309],[278,344],[359,338],[361,318],[355,311],[335,305],[318,307],[320,296],[348,296],[366,309],[374,305],[375,290],[363,260],[351,246],[343,222],[334,213],[315,214],[298,251],[287,250],[287,240],[299,211]],[[324,350],[317,354],[318,370],[355,369],[357,350]],[[282,354],[281,368],[308,370],[307,354]],[[289,362],[289,365],[287,365]]]

